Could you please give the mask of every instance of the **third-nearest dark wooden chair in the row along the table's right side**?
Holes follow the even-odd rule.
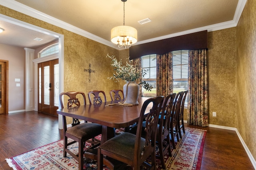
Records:
[[[172,141],[172,147],[173,149],[176,149],[175,145],[175,137],[177,141],[179,142],[179,135],[178,135],[178,115],[180,114],[180,105],[182,101],[184,92],[178,92],[176,94],[176,97],[173,102],[172,106],[172,114],[171,114],[171,120],[170,120],[170,137]]]

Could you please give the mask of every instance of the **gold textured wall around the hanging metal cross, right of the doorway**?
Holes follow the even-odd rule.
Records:
[[[68,36],[67,36],[68,35]],[[87,92],[103,90],[107,100],[111,100],[109,91],[112,88],[119,89],[119,83],[108,80],[113,73],[110,59],[107,54],[119,57],[119,51],[97,43],[72,32],[64,35],[64,90]],[[95,72],[91,73],[91,82],[88,81],[89,73],[84,68]]]

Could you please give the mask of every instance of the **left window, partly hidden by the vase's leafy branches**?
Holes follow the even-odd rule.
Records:
[[[150,83],[153,86],[151,92],[142,88],[142,96],[156,97],[156,54],[142,56],[141,65],[143,69],[148,70],[142,80]]]

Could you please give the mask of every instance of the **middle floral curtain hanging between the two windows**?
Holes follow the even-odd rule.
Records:
[[[172,52],[156,55],[156,96],[167,96],[172,89]]]

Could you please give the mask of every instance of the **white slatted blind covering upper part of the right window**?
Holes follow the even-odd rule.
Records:
[[[188,50],[172,51],[173,78],[188,78]]]

